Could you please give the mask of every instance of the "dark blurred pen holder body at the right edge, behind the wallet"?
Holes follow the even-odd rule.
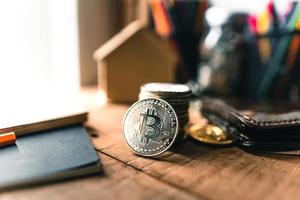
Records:
[[[245,89],[256,100],[299,101],[300,32],[277,29],[249,38]]]

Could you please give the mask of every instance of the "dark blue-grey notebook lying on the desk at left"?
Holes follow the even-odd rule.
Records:
[[[83,125],[41,131],[0,148],[0,189],[100,172]]]

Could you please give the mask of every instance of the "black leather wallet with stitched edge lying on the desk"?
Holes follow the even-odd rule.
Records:
[[[300,111],[245,114],[219,99],[204,98],[202,115],[232,134],[244,148],[285,151],[300,149]]]

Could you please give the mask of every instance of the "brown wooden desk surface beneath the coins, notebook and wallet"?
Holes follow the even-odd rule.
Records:
[[[126,146],[121,131],[128,105],[99,107],[95,89],[85,90],[84,97],[103,173],[2,192],[1,200],[300,198],[298,156],[252,155],[186,140],[159,160],[139,157]]]

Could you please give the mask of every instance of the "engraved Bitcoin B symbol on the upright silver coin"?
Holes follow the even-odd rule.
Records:
[[[141,142],[149,144],[150,139],[160,136],[161,119],[154,108],[148,108],[145,113],[140,115],[142,116],[140,125]]]

